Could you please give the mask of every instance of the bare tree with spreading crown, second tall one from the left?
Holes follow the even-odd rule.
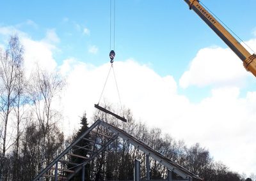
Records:
[[[63,140],[63,138],[59,138],[63,134],[60,131],[52,135],[53,132],[58,130],[56,123],[61,116],[60,112],[53,108],[52,103],[54,99],[58,98],[58,94],[60,94],[65,83],[58,73],[49,73],[39,68],[33,73],[29,82],[31,107],[42,133],[38,138],[38,171],[41,171],[43,166],[56,154],[56,147],[52,147],[52,144],[56,144],[54,139],[57,139],[57,145],[60,143],[58,140]],[[52,139],[52,136],[57,137]]]

